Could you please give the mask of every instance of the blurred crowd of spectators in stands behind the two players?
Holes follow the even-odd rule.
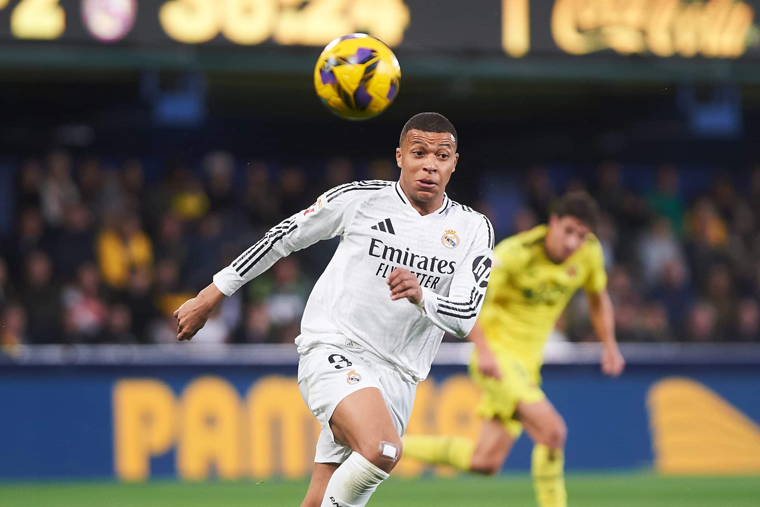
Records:
[[[173,343],[174,310],[270,227],[332,186],[397,179],[392,160],[334,159],[306,170],[218,151],[192,165],[143,164],[53,151],[14,166],[0,344]],[[508,195],[483,177],[481,191],[454,197],[489,215],[502,239],[546,221],[561,192],[587,189],[603,211],[597,236],[620,341],[760,340],[760,170],[715,170],[689,192],[689,173],[676,166],[655,169],[647,188],[626,184],[629,171],[608,162],[559,183],[562,170],[538,166],[499,179],[516,185]],[[278,261],[226,298],[195,340],[293,341],[335,246]],[[553,339],[594,341],[582,295]]]

